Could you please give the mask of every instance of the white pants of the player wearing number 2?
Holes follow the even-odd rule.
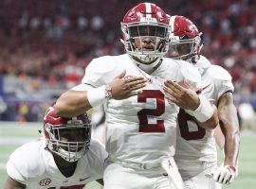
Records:
[[[104,189],[172,189],[161,166],[135,169],[108,161],[104,170]],[[172,184],[173,185],[173,184]]]

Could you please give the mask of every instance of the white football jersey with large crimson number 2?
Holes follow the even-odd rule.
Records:
[[[82,83],[93,87],[108,85],[123,70],[125,77],[146,77],[148,82],[141,94],[106,102],[107,152],[114,160],[133,163],[151,163],[174,156],[179,108],[165,98],[164,81],[187,78],[196,87],[201,80],[198,70],[182,60],[163,59],[148,75],[127,54],[105,56],[91,61]]]

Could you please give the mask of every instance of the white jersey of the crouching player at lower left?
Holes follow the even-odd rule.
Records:
[[[91,140],[89,150],[78,161],[74,174],[68,178],[60,172],[51,152],[45,147],[44,138],[18,147],[7,163],[9,177],[31,189],[61,189],[67,186],[82,189],[86,183],[102,179],[107,153],[98,141]]]

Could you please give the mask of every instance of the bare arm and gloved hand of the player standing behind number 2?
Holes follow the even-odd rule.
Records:
[[[218,101],[218,115],[220,127],[225,136],[225,160],[213,173],[213,180],[229,184],[237,174],[236,165],[239,152],[239,124],[233,104],[233,95],[230,92],[222,94]]]

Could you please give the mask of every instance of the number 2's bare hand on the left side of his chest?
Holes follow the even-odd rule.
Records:
[[[124,70],[109,85],[113,99],[121,100],[137,95],[141,92],[139,89],[146,86],[147,79],[145,77],[125,77],[125,74]]]

